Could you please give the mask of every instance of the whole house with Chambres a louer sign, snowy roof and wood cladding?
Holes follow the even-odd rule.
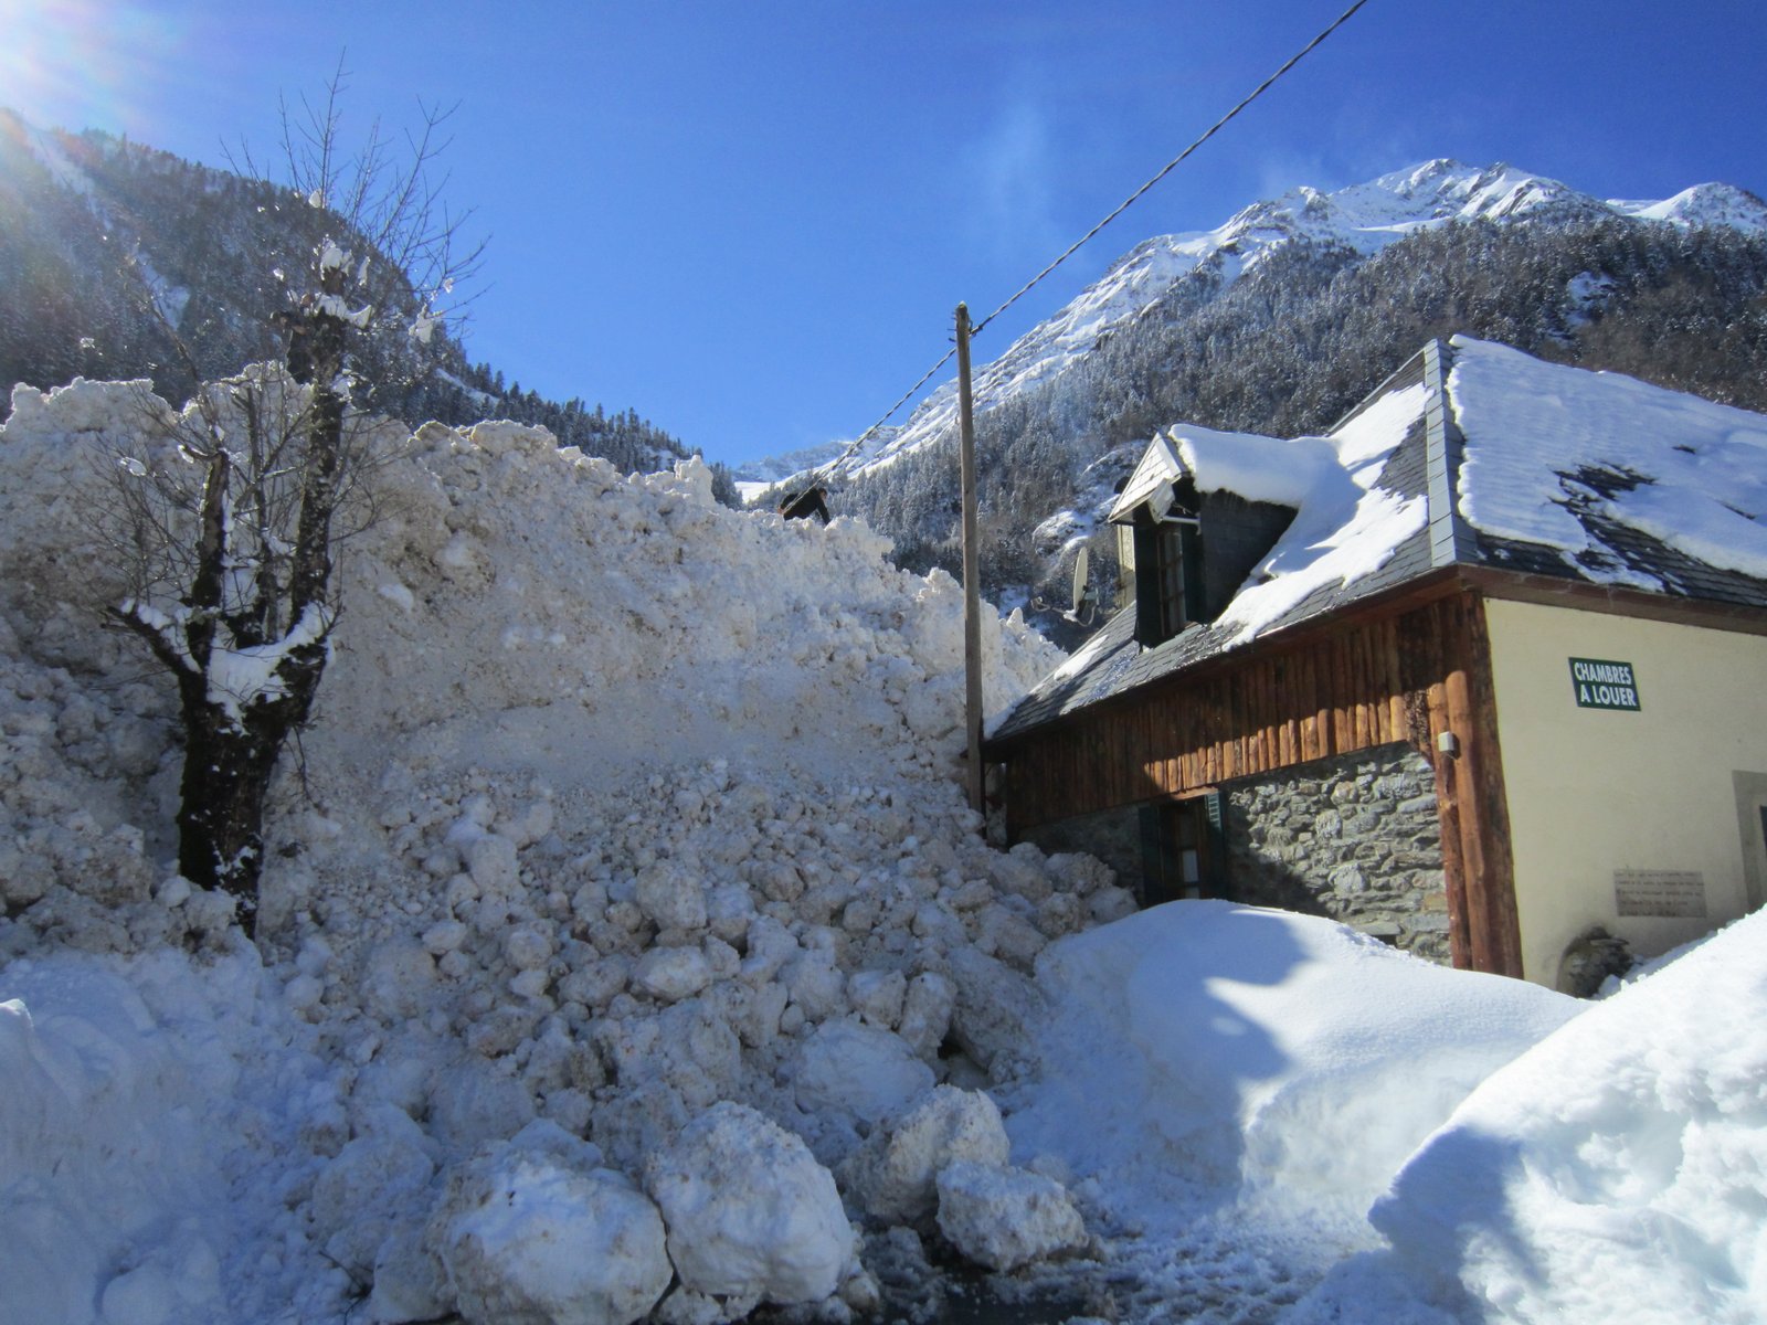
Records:
[[[1762,415],[1456,337],[1110,519],[1133,601],[984,747],[1014,839],[1564,986],[1767,899]]]

